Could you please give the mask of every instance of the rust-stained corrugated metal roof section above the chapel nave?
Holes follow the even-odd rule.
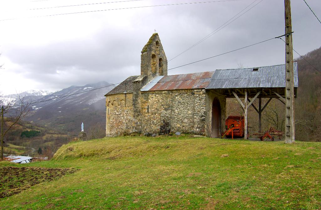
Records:
[[[205,88],[213,76],[213,71],[192,74],[178,74],[155,77],[141,91],[182,90]]]

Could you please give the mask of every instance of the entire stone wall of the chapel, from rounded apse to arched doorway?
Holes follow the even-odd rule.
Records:
[[[212,103],[215,98],[221,105],[221,133],[225,130],[226,98],[219,92],[205,89],[140,92],[134,101],[133,93],[108,95],[106,135],[179,131],[212,136]],[[140,110],[136,110],[138,108]]]

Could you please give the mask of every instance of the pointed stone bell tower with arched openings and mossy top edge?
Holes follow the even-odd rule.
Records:
[[[156,76],[167,76],[167,58],[157,33],[153,34],[143,47],[141,75],[147,76],[147,81]]]

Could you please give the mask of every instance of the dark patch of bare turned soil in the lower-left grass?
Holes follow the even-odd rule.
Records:
[[[40,167],[1,167],[0,198],[18,194],[22,190],[45,181],[51,181],[65,174],[72,174],[77,169],[40,168]]]

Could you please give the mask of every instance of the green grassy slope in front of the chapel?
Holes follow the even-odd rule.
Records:
[[[321,209],[320,149],[187,135],[71,142],[50,161],[0,162],[79,169],[0,198],[0,208]]]

